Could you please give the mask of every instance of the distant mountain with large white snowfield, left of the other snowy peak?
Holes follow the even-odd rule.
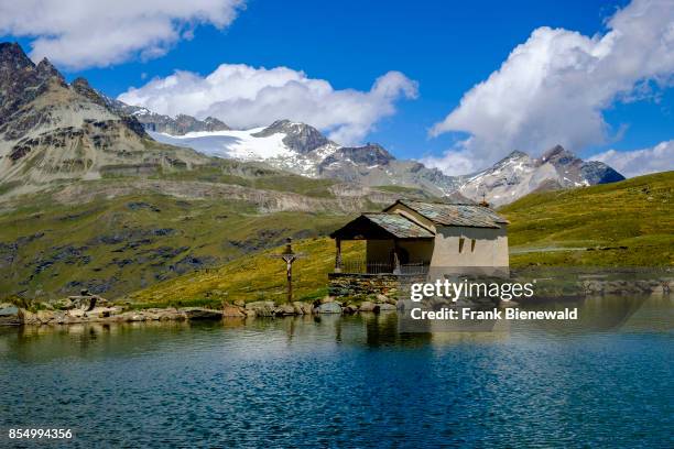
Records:
[[[458,186],[455,177],[414,161],[399,161],[381,145],[341,146],[315,128],[290,120],[246,131],[188,132],[184,135],[150,131],[150,135],[160,142],[192,147],[211,156],[264,162],[314,178],[334,178],[363,186],[415,187],[438,196]]]

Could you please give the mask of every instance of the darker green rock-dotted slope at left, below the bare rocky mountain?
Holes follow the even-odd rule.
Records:
[[[325,234],[344,220],[165,195],[32,206],[0,217],[0,292],[50,298],[89,288],[116,297],[276,247],[287,236]]]

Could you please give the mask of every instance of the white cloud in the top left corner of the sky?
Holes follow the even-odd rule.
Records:
[[[31,57],[73,69],[162,56],[194,28],[229,25],[243,0],[0,2],[0,34],[33,39]]]

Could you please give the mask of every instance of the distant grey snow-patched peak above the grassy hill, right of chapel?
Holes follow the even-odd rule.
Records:
[[[493,166],[470,175],[458,191],[494,206],[512,202],[536,190],[554,190],[595,184],[615,183],[624,177],[608,165],[583,161],[557,145],[540,158],[513,151]]]

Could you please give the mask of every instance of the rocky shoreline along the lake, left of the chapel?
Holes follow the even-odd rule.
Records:
[[[0,326],[75,325],[86,322],[195,321],[222,318],[283,317],[318,314],[356,314],[396,310],[396,300],[377,295],[359,305],[337,302],[327,296],[314,303],[293,302],[278,305],[271,300],[222,303],[221,308],[165,307],[130,309],[97,295],[70,296],[55,304],[40,304],[29,310],[13,304],[0,304]]]

